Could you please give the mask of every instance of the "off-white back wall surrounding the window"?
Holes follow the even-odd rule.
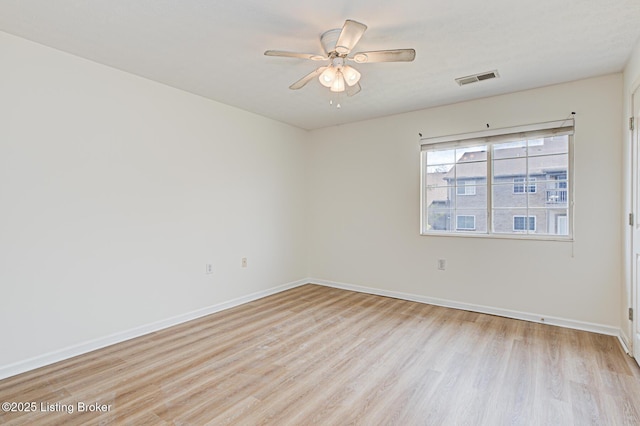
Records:
[[[618,328],[621,94],[615,74],[312,132],[310,275]],[[418,132],[516,126],[572,111],[575,243],[419,235]]]

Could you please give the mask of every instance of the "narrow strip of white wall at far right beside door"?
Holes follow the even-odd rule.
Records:
[[[624,194],[623,200],[623,212],[629,213],[631,212],[631,161],[630,158],[632,156],[631,150],[631,132],[629,132],[629,117],[632,116],[631,111],[631,95],[635,91],[637,87],[640,86],[640,39],[635,45],[629,61],[624,69],[624,90],[623,90],[623,105],[624,105],[624,113],[622,115],[622,129],[624,135],[624,146],[623,146],[623,158],[622,162],[622,190]],[[624,238],[624,247],[625,253],[622,257],[622,268],[625,276],[625,286],[622,291],[622,301],[621,301],[621,312],[620,312],[620,323],[622,324],[622,334],[623,339],[626,341],[627,345],[630,343],[631,337],[631,328],[632,324],[629,321],[629,317],[627,315],[627,308],[633,307],[633,301],[631,300],[632,290],[631,290],[631,238],[630,238],[630,227],[627,226],[626,222],[622,224],[622,234]],[[637,351],[637,349],[635,349]],[[638,353],[635,353],[638,356]]]

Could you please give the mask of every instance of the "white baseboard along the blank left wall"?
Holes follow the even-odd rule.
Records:
[[[289,290],[294,287],[299,287],[303,284],[309,283],[308,279],[298,280],[291,283],[283,284],[280,286],[272,287],[267,290],[251,293],[246,296],[238,297],[236,299],[229,300],[227,302],[218,303],[216,305],[207,306],[202,309],[197,309],[185,314],[176,315],[165,320],[156,321],[150,324],[145,324],[140,327],[135,327],[122,332],[114,333],[109,336],[99,337],[97,339],[89,340],[87,342],[79,343],[77,345],[62,348],[56,351],[52,351],[43,355],[39,355],[33,358],[26,359],[24,361],[18,361],[13,364],[0,366],[0,380],[7,377],[15,376],[26,371],[35,370],[36,368],[44,367],[65,359],[73,358],[78,355],[85,354],[87,352],[95,351],[97,349],[111,346],[116,343],[124,342],[126,340],[140,337],[145,334],[153,333],[158,330],[162,330],[174,325],[182,324],[187,321],[194,320],[206,315],[210,315],[216,312],[224,311],[225,309],[233,308],[244,303],[252,302],[257,299],[261,299],[272,294],[280,293],[281,291]]]

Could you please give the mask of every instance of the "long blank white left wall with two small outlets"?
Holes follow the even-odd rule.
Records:
[[[0,33],[0,370],[304,278],[306,134]]]

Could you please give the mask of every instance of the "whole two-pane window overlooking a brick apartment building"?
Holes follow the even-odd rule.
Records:
[[[421,233],[571,239],[573,120],[422,140]]]

